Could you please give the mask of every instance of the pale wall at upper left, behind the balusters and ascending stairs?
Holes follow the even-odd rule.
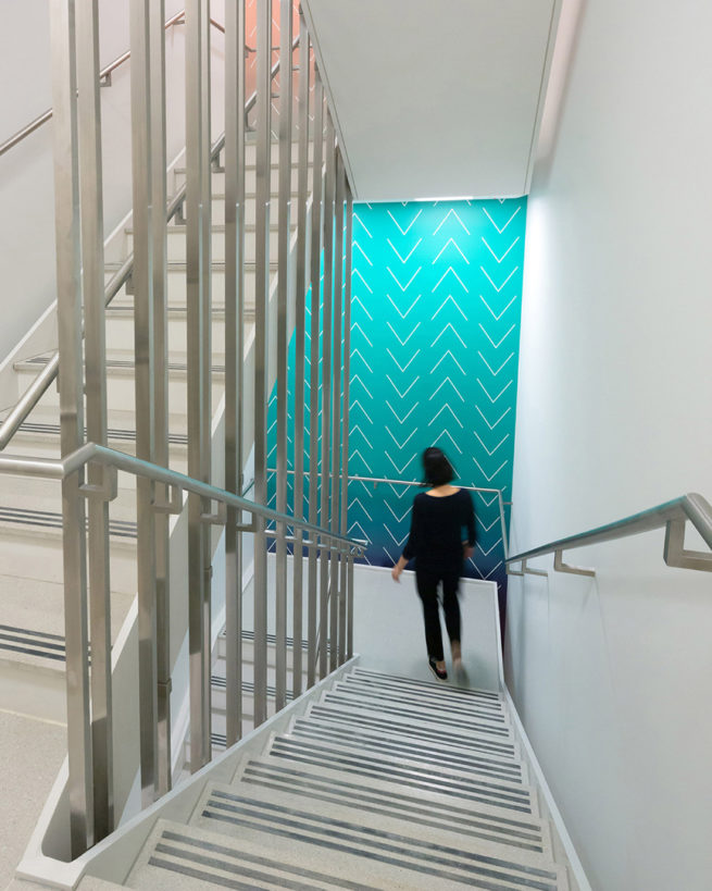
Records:
[[[184,8],[166,0],[166,18]],[[213,17],[224,21],[223,3]],[[0,141],[51,108],[49,0],[3,0],[0,28]],[[101,65],[128,49],[128,0],[100,0]],[[213,134],[223,129],[223,37],[212,29]],[[167,157],[185,145],[184,28],[166,34]],[[102,90],[104,231],[130,210],[130,63]],[[0,359],[55,297],[51,123],[0,158]],[[168,184],[172,185],[171,183]],[[2,406],[0,406],[2,408]]]

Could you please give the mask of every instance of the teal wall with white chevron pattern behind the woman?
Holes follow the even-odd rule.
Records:
[[[510,500],[525,221],[526,198],[354,206],[349,475],[420,480],[438,445],[461,483]],[[273,437],[275,409],[273,395]],[[369,562],[398,558],[416,492],[350,483],[349,532],[371,542]],[[496,494],[475,510],[467,574],[502,582]]]

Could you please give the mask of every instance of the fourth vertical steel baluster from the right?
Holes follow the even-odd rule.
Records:
[[[309,345],[309,522],[318,523],[318,332],[322,274],[322,151],[324,147],[324,87],[318,72],[314,72],[314,161],[312,174],[312,234],[311,234],[311,325]],[[307,685],[316,681],[316,536],[309,546],[307,603]]]

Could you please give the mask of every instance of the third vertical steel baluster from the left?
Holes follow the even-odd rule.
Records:
[[[136,456],[153,460],[153,298],[151,242],[151,133],[149,3],[132,0],[132,156],[134,169],[134,343]],[[164,213],[161,208],[159,211]],[[136,480],[138,659],[141,800],[155,797],[158,690],[155,640],[154,513],[150,481]]]

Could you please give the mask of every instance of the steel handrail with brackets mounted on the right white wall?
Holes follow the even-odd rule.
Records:
[[[663,558],[667,566],[680,569],[699,569],[712,572],[712,553],[705,554],[699,550],[687,550],[685,548],[685,524],[690,521],[695,529],[702,536],[707,545],[712,550],[712,506],[701,495],[689,493],[680,498],[658,505],[640,513],[634,513],[623,520],[599,527],[598,529],[582,532],[577,535],[569,535],[555,542],[524,550],[507,558],[507,571],[510,576],[536,574],[546,576],[541,569],[527,567],[527,560],[534,557],[542,557],[547,554],[554,555],[553,568],[558,572],[571,572],[576,576],[595,576],[592,569],[567,566],[563,562],[563,552],[572,547],[586,547],[588,545],[612,542],[616,539],[624,539],[628,535],[638,535],[642,532],[651,532],[655,529],[665,528],[665,544]],[[521,562],[520,570],[510,569],[510,564]]]

